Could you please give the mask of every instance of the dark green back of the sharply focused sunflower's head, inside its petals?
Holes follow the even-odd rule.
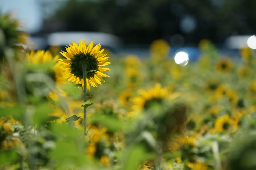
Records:
[[[86,64],[87,68],[86,71],[93,71],[93,70],[98,70],[98,61],[97,58],[95,58],[93,55],[90,53],[82,53],[76,54],[74,58],[71,58],[71,63],[70,63],[70,69],[72,74],[76,78],[79,78],[80,80],[83,79],[83,65]],[[90,77],[93,77],[95,74],[95,71],[93,72],[88,72],[87,73],[87,79],[90,79]]]

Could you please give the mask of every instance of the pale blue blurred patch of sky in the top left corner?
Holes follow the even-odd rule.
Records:
[[[22,23],[20,29],[33,33],[43,24],[43,13],[38,0],[0,0],[1,13],[11,12]]]

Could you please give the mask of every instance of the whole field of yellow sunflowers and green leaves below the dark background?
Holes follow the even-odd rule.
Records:
[[[17,26],[0,15],[0,169],[256,169],[252,49],[201,40],[181,64],[164,40],[144,57],[83,39],[34,51]]]

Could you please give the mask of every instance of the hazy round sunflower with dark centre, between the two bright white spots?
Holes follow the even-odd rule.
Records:
[[[229,57],[220,57],[215,62],[215,68],[218,71],[231,72],[233,69],[233,62]]]

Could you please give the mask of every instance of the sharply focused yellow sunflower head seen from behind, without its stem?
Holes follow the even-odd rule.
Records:
[[[108,77],[104,74],[104,71],[110,71],[109,68],[104,68],[110,64],[106,62],[109,57],[105,57],[107,54],[102,54],[104,49],[100,50],[100,44],[93,47],[93,42],[86,47],[85,40],[82,43],[80,40],[79,45],[73,42],[73,45],[69,44],[66,47],[67,52],[60,52],[66,59],[59,59],[58,62],[63,64],[66,70],[69,70],[67,75],[68,82],[75,82],[75,84],[82,84],[83,80],[83,68],[86,67],[86,88],[90,91],[90,85],[98,87],[98,84],[105,82],[102,77]],[[90,72],[91,71],[91,72]]]

